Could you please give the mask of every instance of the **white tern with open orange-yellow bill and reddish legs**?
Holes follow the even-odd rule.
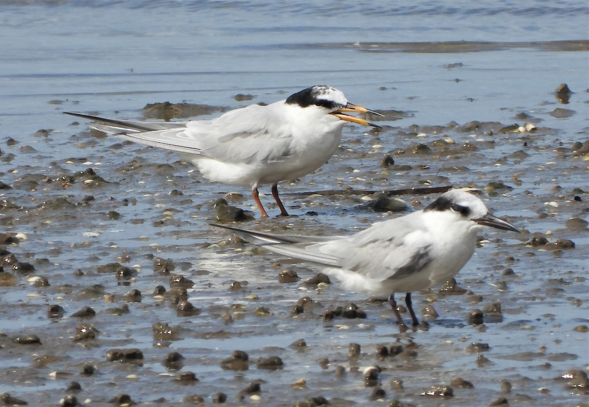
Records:
[[[92,120],[89,127],[137,143],[176,151],[211,181],[251,187],[262,217],[258,187],[272,184],[282,216],[278,183],[312,173],[332,157],[346,122],[380,127],[346,112],[375,111],[348,102],[342,91],[316,85],[269,105],[253,104],[213,120],[143,122],[64,112]]]

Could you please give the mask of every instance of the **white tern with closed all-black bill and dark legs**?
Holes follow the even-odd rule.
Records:
[[[378,222],[351,236],[289,236],[214,224],[270,252],[325,266],[346,289],[388,297],[399,326],[406,327],[395,293],[404,292],[413,325],[419,325],[411,293],[444,284],[471,258],[484,226],[519,232],[493,216],[483,201],[450,190],[425,209]]]

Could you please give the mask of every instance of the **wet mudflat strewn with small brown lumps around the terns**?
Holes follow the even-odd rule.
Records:
[[[265,196],[266,220],[248,191],[70,119],[67,136],[33,136],[67,138],[61,157],[4,140],[0,404],[586,405],[579,106],[514,109],[511,123],[346,127],[329,163],[282,183],[293,216],[272,217]],[[177,117],[149,111],[137,116]],[[425,323],[406,332],[383,299],[209,226],[353,233],[449,187],[476,189],[523,233],[482,231],[456,282],[415,293]]]

